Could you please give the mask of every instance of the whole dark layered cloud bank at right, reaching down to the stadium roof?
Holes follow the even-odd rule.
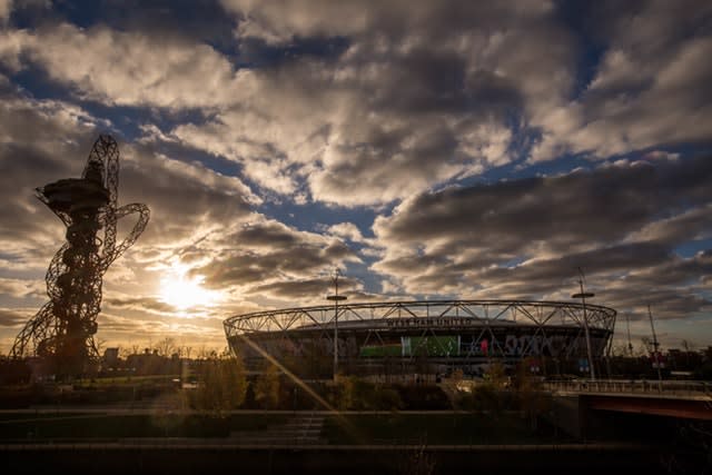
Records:
[[[541,298],[583,267],[609,303],[659,295],[662,316],[680,318],[710,305],[698,295],[708,254],[674,251],[712,237],[710,184],[712,161],[699,157],[425,194],[376,219],[386,251],[374,268],[416,294]]]

